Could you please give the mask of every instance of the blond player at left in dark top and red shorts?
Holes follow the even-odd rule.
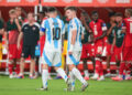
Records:
[[[6,48],[9,51],[9,77],[13,78],[13,68],[15,71],[15,75],[20,73],[20,57],[22,50],[21,48],[16,48],[16,42],[21,31],[21,22],[16,19],[14,9],[9,11],[9,17],[10,20],[7,22]]]

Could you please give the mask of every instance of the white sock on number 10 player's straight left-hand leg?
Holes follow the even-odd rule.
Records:
[[[42,83],[43,83],[44,88],[47,88],[47,80],[48,80],[48,70],[43,70],[42,71]]]

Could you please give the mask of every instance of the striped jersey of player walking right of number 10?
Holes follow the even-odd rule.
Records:
[[[82,49],[81,48],[81,34],[84,33],[84,31],[82,31],[82,24],[78,18],[74,18],[73,20],[70,20],[68,24],[68,51],[70,49],[73,30],[77,30],[74,51],[81,51]]]

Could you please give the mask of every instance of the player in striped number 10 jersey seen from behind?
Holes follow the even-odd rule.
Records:
[[[64,22],[57,18],[57,10],[55,8],[47,9],[48,19],[44,20],[41,25],[41,35],[46,36],[43,51],[43,71],[42,71],[42,91],[47,91],[48,66],[54,66],[55,71],[67,83],[68,77],[62,65],[62,45],[63,34],[65,33]]]

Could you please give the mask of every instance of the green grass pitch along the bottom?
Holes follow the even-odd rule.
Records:
[[[76,82],[75,92],[65,92],[66,84],[63,80],[48,81],[48,91],[35,91],[41,87],[41,77],[37,80],[10,80],[0,76],[0,95],[132,95],[132,81],[113,82],[107,78],[105,82],[89,81],[90,86],[86,92],[80,92],[81,84]]]

